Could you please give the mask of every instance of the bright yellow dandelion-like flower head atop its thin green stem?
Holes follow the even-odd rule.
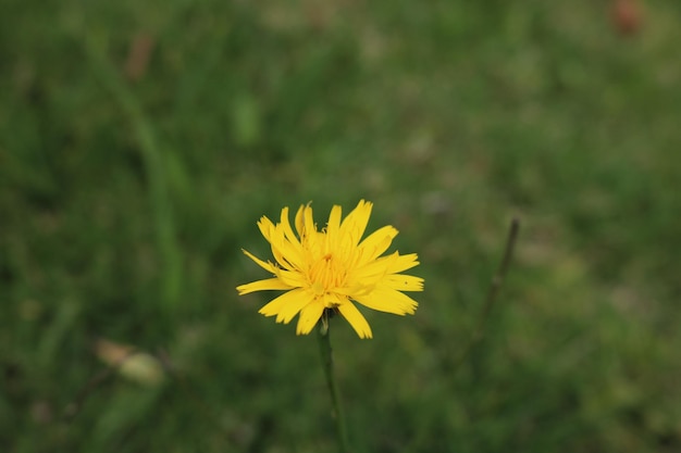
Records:
[[[288,324],[298,313],[298,335],[307,335],[324,310],[340,313],[360,338],[371,338],[371,327],[351,301],[369,309],[397,315],[413,314],[419,305],[400,291],[422,291],[423,279],[399,274],[419,264],[417,254],[384,253],[397,236],[397,229],[384,226],[360,242],[371,215],[372,203],[361,200],[340,221],[340,206],[333,206],[326,228],[317,230],[310,205],[300,206],[294,234],[288,223],[288,207],[273,224],[263,216],[258,222],[262,236],[272,246],[275,263],[244,253],[273,278],[237,287],[239,294],[262,290],[285,290],[260,309],[264,316],[275,316]]]

